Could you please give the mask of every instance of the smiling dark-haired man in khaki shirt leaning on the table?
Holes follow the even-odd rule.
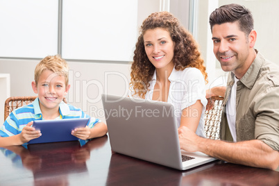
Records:
[[[251,12],[237,4],[210,15],[214,54],[228,77],[221,140],[178,130],[180,148],[251,167],[279,165],[279,69],[253,47],[257,33]],[[223,141],[226,140],[226,141]]]

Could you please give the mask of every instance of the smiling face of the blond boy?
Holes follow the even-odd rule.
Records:
[[[39,80],[32,82],[33,91],[38,94],[40,108],[46,110],[59,110],[64,96],[69,90],[69,85],[65,85],[65,76],[60,76],[49,69],[42,71]]]

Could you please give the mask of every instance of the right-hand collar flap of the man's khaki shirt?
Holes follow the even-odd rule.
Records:
[[[257,80],[257,75],[260,73],[260,68],[264,62],[264,56],[260,52],[257,53],[255,60],[252,62],[251,66],[248,68],[244,76],[240,81],[251,89]]]

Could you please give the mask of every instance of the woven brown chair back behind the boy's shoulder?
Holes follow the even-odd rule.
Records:
[[[12,110],[22,107],[23,105],[28,105],[29,103],[32,103],[36,98],[37,96],[15,96],[6,99],[4,109],[4,121],[6,120],[8,115],[10,115],[10,112],[12,112]]]

